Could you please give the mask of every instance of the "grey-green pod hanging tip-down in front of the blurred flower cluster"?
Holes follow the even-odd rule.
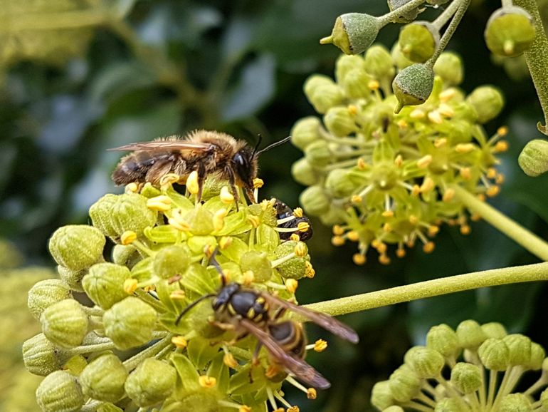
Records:
[[[434,72],[426,64],[416,63],[402,69],[392,82],[392,90],[398,99],[394,113],[405,105],[420,105],[432,93]]]

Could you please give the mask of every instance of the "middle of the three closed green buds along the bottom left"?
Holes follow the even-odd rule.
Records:
[[[80,374],[85,396],[104,402],[117,402],[125,395],[127,370],[115,354],[105,354],[93,360]]]

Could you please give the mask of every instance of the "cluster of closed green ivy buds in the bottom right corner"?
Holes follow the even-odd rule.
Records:
[[[546,411],[548,359],[522,334],[496,322],[461,322],[453,331],[433,326],[426,346],[414,346],[389,380],[376,383],[371,401],[380,411]],[[516,391],[529,371],[537,381]],[[520,386],[521,389],[521,386]]]

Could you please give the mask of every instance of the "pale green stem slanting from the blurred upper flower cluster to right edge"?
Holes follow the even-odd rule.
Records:
[[[500,232],[504,233],[507,237],[510,237],[510,239],[514,240],[517,244],[520,244],[539,259],[548,261],[547,242],[544,242],[540,237],[529,232],[525,227],[518,225],[509,217],[488,205],[488,203],[482,202],[462,187],[458,185],[448,185],[448,187],[455,190],[455,195],[458,196],[466,207],[468,207],[470,212],[480,215],[490,225],[500,230]]]

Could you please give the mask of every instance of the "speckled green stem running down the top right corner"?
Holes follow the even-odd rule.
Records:
[[[515,6],[522,7],[522,9],[525,9],[532,16],[534,29],[537,32],[537,36],[535,36],[531,47],[529,47],[529,50],[524,55],[527,67],[529,67],[529,73],[531,73],[534,88],[537,89],[542,113],[544,113],[544,126],[537,125],[537,127],[542,133],[547,135],[548,132],[545,128],[548,124],[548,39],[544,33],[537,1],[515,0],[514,4]]]

